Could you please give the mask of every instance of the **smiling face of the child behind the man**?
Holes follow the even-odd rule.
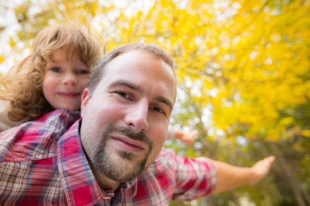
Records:
[[[45,66],[43,94],[55,109],[79,110],[81,95],[88,86],[90,69],[79,59],[78,55],[67,60],[65,50],[52,53],[52,59]]]

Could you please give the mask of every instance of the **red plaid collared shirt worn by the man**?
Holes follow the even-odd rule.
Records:
[[[209,159],[166,149],[116,194],[101,190],[83,152],[79,118],[79,112],[55,110],[0,133],[0,205],[168,206],[171,199],[190,201],[213,191],[216,171]]]

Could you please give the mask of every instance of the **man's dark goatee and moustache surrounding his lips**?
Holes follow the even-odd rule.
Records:
[[[136,158],[136,155],[123,150],[117,150],[116,157],[112,156],[111,153],[109,153],[109,148],[107,148],[107,140],[111,132],[118,132],[131,139],[145,142],[148,147],[144,158],[135,163],[134,159]],[[108,125],[103,130],[101,142],[94,153],[93,165],[111,180],[116,182],[129,182],[137,178],[138,175],[143,172],[152,149],[153,142],[145,135],[145,133],[134,133],[130,127]]]

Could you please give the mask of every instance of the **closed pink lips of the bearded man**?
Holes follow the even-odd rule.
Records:
[[[139,152],[146,149],[146,146],[143,144],[143,142],[131,139],[129,137],[112,136],[112,139],[115,141],[115,144],[118,147],[130,152]]]

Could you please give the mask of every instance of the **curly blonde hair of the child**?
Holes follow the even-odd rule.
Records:
[[[81,26],[54,25],[34,38],[32,52],[3,77],[0,99],[9,101],[7,116],[12,121],[31,121],[54,110],[43,95],[44,69],[52,53],[64,49],[67,58],[78,55],[93,71],[101,58],[98,38]]]

